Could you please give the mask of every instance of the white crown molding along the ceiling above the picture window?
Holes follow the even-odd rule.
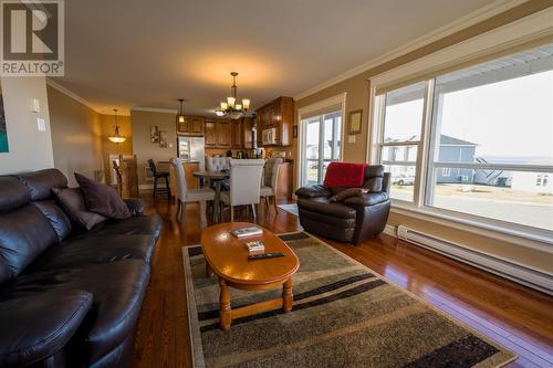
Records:
[[[399,57],[401,55],[405,55],[411,51],[415,51],[417,49],[420,49],[427,44],[430,44],[435,41],[438,41],[440,39],[444,39],[450,34],[453,34],[456,32],[459,32],[466,28],[469,28],[473,24],[477,24],[486,19],[489,19],[493,15],[497,15],[499,13],[502,13],[511,8],[514,8],[517,6],[520,6],[521,3],[524,3],[525,0],[495,0],[492,3],[482,7],[473,12],[468,13],[467,15],[463,15],[461,18],[458,18],[457,20],[442,25],[420,38],[415,39],[414,41],[410,41],[399,48],[396,48],[378,57],[372,59],[361,65],[357,65],[347,72],[344,72],[326,82],[320,83],[309,90],[305,90],[296,95],[294,95],[294,101],[302,99],[304,97],[307,97],[314,93],[317,93],[324,88],[327,88],[334,84],[337,84],[340,82],[343,82],[345,80],[348,80],[355,75],[362,74],[363,72],[366,72],[373,67],[376,67],[378,65],[382,65],[384,63],[387,63],[396,57]]]

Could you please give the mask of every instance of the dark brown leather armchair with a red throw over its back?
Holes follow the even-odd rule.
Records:
[[[384,172],[384,166],[375,165],[365,168],[363,188],[369,190],[366,194],[331,202],[330,198],[345,188],[321,185],[300,188],[295,191],[300,223],[313,234],[357,245],[386,227],[389,186],[389,172]]]

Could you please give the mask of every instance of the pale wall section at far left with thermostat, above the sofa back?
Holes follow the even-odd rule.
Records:
[[[53,167],[46,80],[44,77],[2,77],[1,88],[9,153],[0,154],[0,174]],[[32,98],[39,99],[40,113],[31,112]],[[46,123],[45,132],[38,129],[39,117]]]

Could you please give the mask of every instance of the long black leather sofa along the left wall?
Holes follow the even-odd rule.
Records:
[[[80,232],[55,169],[0,177],[0,367],[127,367],[159,238],[157,215]]]

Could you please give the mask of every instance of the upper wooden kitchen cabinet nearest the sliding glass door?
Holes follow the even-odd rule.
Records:
[[[294,126],[294,99],[279,97],[255,111],[258,116],[258,144],[262,145],[263,129],[276,129],[276,143],[271,146],[292,145]]]

